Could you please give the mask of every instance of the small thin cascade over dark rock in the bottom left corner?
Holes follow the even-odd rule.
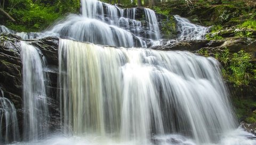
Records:
[[[1,88],[0,91],[0,144],[19,141],[16,109],[9,99],[4,98],[4,92]]]

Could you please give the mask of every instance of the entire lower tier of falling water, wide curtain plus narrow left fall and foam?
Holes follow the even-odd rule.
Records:
[[[59,41],[61,128],[50,130],[47,61],[21,44],[26,123],[12,144],[256,144],[237,128],[217,60],[68,39]]]

